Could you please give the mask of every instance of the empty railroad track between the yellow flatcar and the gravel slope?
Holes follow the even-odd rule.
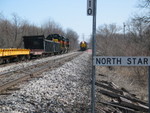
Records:
[[[21,81],[37,77],[46,70],[52,70],[53,68],[59,67],[64,64],[64,62],[70,61],[80,54],[82,53],[75,52],[67,56],[65,55],[61,58],[48,60],[36,65],[31,65],[15,71],[0,74],[0,94],[3,94],[4,91],[6,91],[7,89],[11,89],[12,86],[20,83]]]

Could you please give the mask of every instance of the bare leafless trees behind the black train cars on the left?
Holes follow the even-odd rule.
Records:
[[[30,24],[17,14],[12,14],[9,20],[0,13],[0,48],[23,48],[22,36],[60,34],[70,39],[70,49],[76,49],[78,34],[72,29],[63,30],[56,22],[49,20],[41,27]]]

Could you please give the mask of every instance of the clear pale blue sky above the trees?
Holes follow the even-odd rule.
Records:
[[[139,0],[97,0],[97,27],[103,24],[123,26],[139,11]],[[92,34],[92,16],[87,16],[87,0],[0,0],[0,13],[11,19],[15,13],[37,26],[55,21],[64,30],[72,29],[79,40]]]

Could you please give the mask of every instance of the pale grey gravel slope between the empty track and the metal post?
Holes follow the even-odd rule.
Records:
[[[0,100],[4,113],[88,113],[90,108],[91,53],[25,83]]]

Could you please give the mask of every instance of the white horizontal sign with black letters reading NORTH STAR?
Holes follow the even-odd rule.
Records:
[[[150,57],[94,56],[95,66],[150,66]]]

